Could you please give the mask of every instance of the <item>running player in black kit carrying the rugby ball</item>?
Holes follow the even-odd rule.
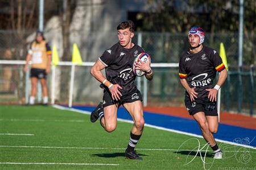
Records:
[[[131,20],[119,24],[117,31],[119,42],[106,50],[91,69],[92,76],[102,82],[104,95],[103,103],[92,111],[90,121],[96,122],[100,118],[101,126],[106,131],[112,132],[117,127],[117,109],[123,105],[134,121],[125,156],[128,159],[142,159],[134,151],[142,135],[144,118],[141,92],[134,84],[136,76],[133,73],[133,62],[144,50],[132,42],[134,23]],[[152,79],[153,72],[149,62],[137,62],[135,67],[145,71],[148,80]],[[106,71],[106,78],[101,73],[102,69]]]

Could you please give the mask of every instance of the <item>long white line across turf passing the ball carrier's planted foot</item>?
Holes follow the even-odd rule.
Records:
[[[41,148],[41,149],[67,149],[67,150],[125,150],[126,148],[104,148],[104,147],[56,147],[56,146],[0,146],[2,148]],[[142,151],[191,151],[191,149],[187,150],[175,150],[175,149],[164,149],[164,148],[136,148],[136,150]],[[207,150],[200,150],[207,151]],[[239,150],[224,150],[224,152],[245,152]],[[247,151],[250,153],[256,153],[256,151]]]

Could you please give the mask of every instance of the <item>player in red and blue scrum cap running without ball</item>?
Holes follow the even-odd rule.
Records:
[[[185,88],[185,106],[199,124],[204,139],[214,151],[214,159],[221,159],[213,134],[218,131],[217,93],[224,84],[228,72],[218,52],[204,46],[203,28],[192,27],[188,31],[190,48],[179,61],[180,82]],[[217,84],[213,80],[220,72]]]

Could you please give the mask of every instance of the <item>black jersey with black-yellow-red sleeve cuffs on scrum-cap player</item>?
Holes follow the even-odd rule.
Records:
[[[196,87],[195,92],[199,93],[197,98],[208,98],[208,91],[213,88],[213,80],[216,72],[225,69],[222,59],[217,51],[204,46],[198,53],[187,51],[180,57],[179,77],[185,78],[188,85]],[[189,96],[186,91],[187,96]]]

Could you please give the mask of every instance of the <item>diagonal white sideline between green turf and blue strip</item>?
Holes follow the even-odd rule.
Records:
[[[75,112],[78,112],[78,113],[90,115],[90,112],[89,112],[89,111],[83,111],[83,110],[74,109],[74,108],[69,108],[69,107],[64,107],[64,106],[59,106],[59,105],[52,105],[52,107],[55,107],[56,109],[70,110],[70,111],[75,111]],[[133,121],[126,120],[126,119],[117,118],[117,120],[118,120],[118,121],[121,121],[121,122],[133,123]],[[177,134],[183,134],[183,135],[188,135],[188,136],[194,136],[194,137],[197,137],[197,138],[203,138],[203,136],[201,136],[201,135],[196,135],[196,134],[192,134],[192,133],[189,133],[189,132],[183,132],[183,131],[179,131],[179,130],[173,130],[173,129],[165,128],[165,127],[159,127],[159,126],[149,125],[149,124],[147,124],[147,123],[145,123],[144,126],[156,128],[156,129],[159,129],[159,130],[165,130],[165,131],[175,132],[175,133],[177,133]],[[221,140],[221,139],[216,139],[216,141],[222,142],[222,143],[227,143],[227,144],[232,144],[232,145],[235,145],[235,146],[242,146],[242,147],[245,147],[245,148],[252,148],[252,149],[256,150],[255,147],[253,147],[253,146],[247,146],[247,145],[245,145],[245,144],[229,142],[229,141]]]

